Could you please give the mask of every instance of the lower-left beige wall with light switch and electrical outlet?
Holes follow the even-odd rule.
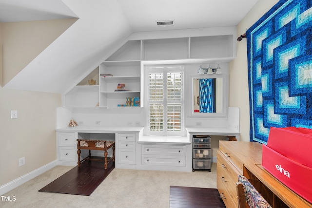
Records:
[[[0,186],[56,160],[59,94],[0,87]],[[11,110],[18,118],[11,119]],[[25,165],[19,167],[19,158]]]

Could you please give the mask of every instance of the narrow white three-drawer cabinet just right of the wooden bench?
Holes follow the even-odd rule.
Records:
[[[136,134],[118,133],[116,168],[136,169]]]

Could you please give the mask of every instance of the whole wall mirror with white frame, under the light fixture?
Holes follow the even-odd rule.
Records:
[[[225,116],[225,79],[223,77],[192,77],[192,116]]]

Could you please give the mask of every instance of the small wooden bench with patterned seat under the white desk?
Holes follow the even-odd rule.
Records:
[[[77,139],[77,154],[78,154],[78,167],[80,167],[80,163],[86,159],[89,160],[101,160],[91,158],[91,150],[101,150],[104,151],[104,169],[107,169],[107,164],[111,161],[115,161],[115,142],[113,141],[105,141],[105,140],[88,140],[88,139]],[[110,148],[113,149],[113,157],[107,160],[107,150]],[[89,155],[80,161],[80,153],[81,150],[89,150]]]

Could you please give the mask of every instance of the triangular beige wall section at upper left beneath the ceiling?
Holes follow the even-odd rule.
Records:
[[[1,23],[3,50],[1,86],[7,84],[75,21],[77,19]]]

